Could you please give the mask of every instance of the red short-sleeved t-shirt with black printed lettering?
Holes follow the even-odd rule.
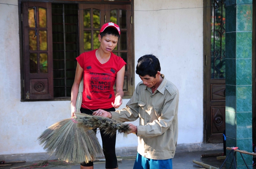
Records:
[[[113,107],[115,93],[113,85],[116,73],[126,65],[125,61],[111,52],[108,62],[101,64],[96,50],[84,52],[76,58],[84,69],[84,90],[81,107],[85,109],[108,109]]]

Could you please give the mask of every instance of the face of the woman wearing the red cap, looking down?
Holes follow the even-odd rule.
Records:
[[[99,35],[100,48],[106,53],[113,51],[118,42],[118,37],[106,34],[104,37]]]

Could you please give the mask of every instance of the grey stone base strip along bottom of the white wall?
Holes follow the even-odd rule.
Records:
[[[214,151],[223,150],[223,144],[178,144],[176,152],[193,152],[193,151]],[[116,148],[116,156],[136,156],[137,147],[122,147]],[[13,155],[0,155],[1,161],[43,161],[54,160],[54,155],[49,155],[46,152],[42,153],[27,153],[27,154],[13,154]]]

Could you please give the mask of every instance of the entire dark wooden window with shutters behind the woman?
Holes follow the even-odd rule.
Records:
[[[103,0],[102,4],[60,2],[22,3],[23,100],[70,99],[76,57],[99,48],[97,35],[106,22],[116,23],[121,29],[113,53],[127,63],[123,90],[125,98],[129,98],[134,91],[131,2],[118,5]]]

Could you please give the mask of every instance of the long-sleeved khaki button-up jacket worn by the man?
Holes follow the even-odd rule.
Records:
[[[178,100],[177,87],[166,78],[154,93],[140,82],[127,107],[111,114],[113,119],[119,121],[140,118],[140,125],[137,126],[137,151],[140,155],[157,160],[170,159],[174,157],[177,145]]]

